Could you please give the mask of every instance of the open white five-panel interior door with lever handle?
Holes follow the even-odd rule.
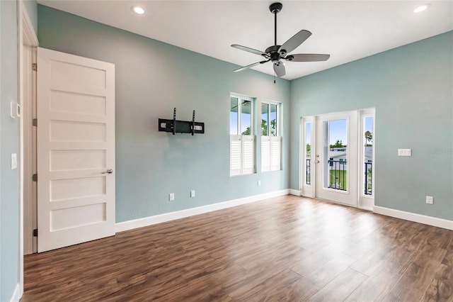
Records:
[[[115,65],[38,48],[38,252],[115,235]]]

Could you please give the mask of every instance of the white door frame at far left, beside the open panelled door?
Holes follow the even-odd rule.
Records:
[[[33,211],[33,208],[30,208],[30,202],[24,204],[24,196],[30,196],[30,188],[25,188],[24,186],[24,179],[31,179],[32,175],[30,175],[30,167],[24,167],[24,158],[25,155],[29,155],[32,152],[32,142],[29,140],[31,137],[29,134],[32,133],[32,125],[31,121],[28,120],[25,122],[25,118],[31,117],[32,113],[30,112],[30,108],[33,107],[33,104],[25,104],[25,102],[35,101],[35,75],[32,72],[32,66],[27,64],[28,66],[24,66],[23,62],[23,45],[27,45],[28,47],[32,47],[32,50],[35,50],[35,47],[38,47],[38,38],[36,36],[35,30],[33,29],[32,23],[30,21],[30,17],[28,16],[27,10],[25,9],[25,4],[23,4],[23,0],[18,1],[18,74],[19,74],[19,99],[21,103],[21,155],[20,155],[20,162],[21,162],[21,177],[19,180],[20,186],[20,221],[19,221],[19,234],[20,234],[20,255],[19,255],[19,297],[23,295],[23,255],[24,255],[24,212],[30,213]],[[32,52],[33,53],[33,52]],[[35,60],[35,56],[32,55],[32,60]],[[35,62],[35,61],[34,61]],[[24,67],[27,68],[26,72],[24,72]],[[26,74],[31,75],[24,79]],[[30,81],[25,83],[24,81]],[[25,90],[26,89],[26,90]],[[31,91],[30,91],[31,89]],[[24,98],[25,95],[32,96],[32,98]],[[27,140],[24,138],[24,133],[28,133]],[[29,200],[28,200],[29,201]],[[26,208],[26,209],[25,209]],[[29,215],[27,215],[29,216]],[[28,219],[28,218],[27,218]],[[31,232],[27,230],[27,236],[33,237]],[[30,238],[29,238],[30,239]]]

